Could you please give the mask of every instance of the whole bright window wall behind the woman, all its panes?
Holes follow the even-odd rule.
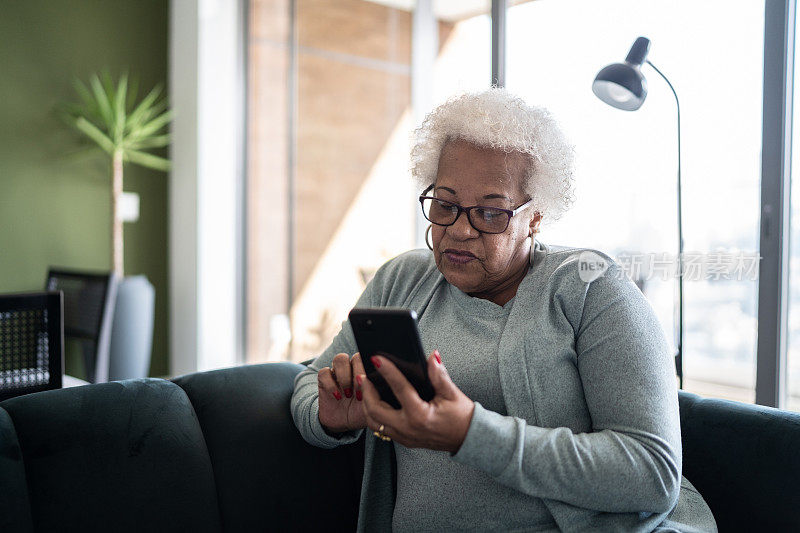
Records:
[[[768,246],[759,241],[759,216],[762,107],[772,105],[763,101],[771,94],[763,90],[769,6],[512,0],[503,30],[491,4],[249,1],[247,361],[316,356],[375,269],[424,246],[410,135],[445,98],[489,86],[498,28],[505,33],[496,42],[507,44],[505,85],[549,108],[577,145],[577,201],[561,221],[544,221],[541,239],[597,248],[624,263],[674,346],[675,101],[649,65],[649,95],[636,112],[591,92],[599,69],[622,61],[645,36],[649,59],[681,103],[684,388],[754,401],[759,253]],[[800,295],[798,264],[793,258],[792,301]],[[796,307],[787,381],[789,406],[800,409]],[[774,357],[762,351],[760,360]]]

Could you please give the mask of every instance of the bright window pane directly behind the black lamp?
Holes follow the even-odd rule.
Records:
[[[763,32],[763,1],[732,9],[724,0],[540,0],[508,14],[507,86],[551,109],[579,157],[574,209],[541,239],[598,248],[626,262],[632,277],[638,271],[674,346],[675,99],[648,65],[649,94],[636,112],[591,91],[597,72],[621,62],[638,36],[651,40],[649,58],[681,104],[684,257],[703,263],[685,266],[684,388],[748,402],[755,399]],[[747,270],[737,272],[732,259]],[[673,274],[654,268],[664,260]]]

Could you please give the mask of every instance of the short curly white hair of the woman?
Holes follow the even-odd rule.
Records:
[[[560,219],[575,201],[575,148],[544,107],[497,87],[451,97],[414,131],[411,175],[420,191],[436,181],[442,148],[455,139],[529,155],[524,190],[542,224]]]

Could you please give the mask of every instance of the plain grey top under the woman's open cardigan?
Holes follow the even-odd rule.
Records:
[[[497,351],[513,305],[513,299],[501,307],[442,283],[419,321],[425,353],[438,348],[453,383],[481,407],[501,415],[507,411]],[[541,498],[503,485],[445,451],[406,448],[396,440],[394,451],[396,533],[553,531],[556,526]]]

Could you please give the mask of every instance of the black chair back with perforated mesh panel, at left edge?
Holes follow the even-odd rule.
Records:
[[[61,292],[0,295],[0,400],[61,388],[62,310]]]

